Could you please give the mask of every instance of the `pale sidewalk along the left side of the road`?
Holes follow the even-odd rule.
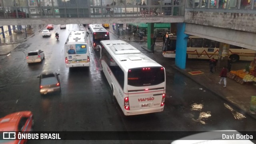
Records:
[[[27,37],[25,31],[23,31],[22,33],[13,33],[11,36],[0,40],[0,60],[5,58],[6,54],[14,50],[21,42],[26,41],[43,29],[39,25],[32,25],[32,28],[34,29],[34,33],[27,31]]]

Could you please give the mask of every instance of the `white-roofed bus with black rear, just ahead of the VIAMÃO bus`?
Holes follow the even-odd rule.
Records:
[[[97,45],[100,45],[101,40],[109,40],[109,32],[102,24],[89,24],[88,27],[90,41],[94,50],[99,50]]]

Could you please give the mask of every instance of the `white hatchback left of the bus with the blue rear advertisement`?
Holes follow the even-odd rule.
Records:
[[[44,59],[44,51],[42,50],[34,50],[28,52],[27,63],[33,63],[33,62],[42,62]]]

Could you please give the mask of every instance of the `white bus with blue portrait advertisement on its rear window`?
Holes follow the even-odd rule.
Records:
[[[90,52],[85,31],[72,31],[64,46],[66,67],[90,66]]]

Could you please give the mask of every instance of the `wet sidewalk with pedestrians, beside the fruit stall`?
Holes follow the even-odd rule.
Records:
[[[112,27],[110,27],[109,31],[113,33]],[[125,41],[141,42],[138,36],[134,37],[131,34],[130,35],[124,34],[122,36],[119,36],[119,38]],[[145,41],[145,44],[142,44],[142,48],[150,52],[150,50],[147,49],[147,43],[145,39],[144,41]],[[155,50],[155,53],[153,55],[154,58],[156,59],[161,58],[163,61],[170,60],[168,58],[164,58],[161,55],[162,42],[156,42],[156,46],[154,50]],[[244,62],[244,64],[234,63],[232,65],[232,70],[244,69],[246,63],[247,62]],[[241,114],[247,113],[252,118],[256,119],[256,114],[252,114],[250,112],[250,100],[251,100],[251,96],[256,96],[256,86],[246,85],[246,84],[242,85],[237,83],[235,80],[231,80],[230,78],[227,78],[227,87],[224,88],[223,84],[222,85],[218,84],[218,82],[220,81],[219,73],[221,71],[221,68],[216,68],[216,72],[214,74],[210,74],[210,68],[207,60],[205,61],[202,60],[200,61],[200,64],[198,63],[195,64],[195,62],[191,59],[186,61],[186,69],[180,69],[175,65],[172,65],[172,68],[174,68],[175,70],[178,70],[185,76],[194,80],[194,82],[200,84],[203,90],[211,91],[212,93],[220,96],[224,100],[227,100],[228,101],[227,104],[229,103],[233,104],[233,108],[237,108],[238,110],[241,110],[239,111]],[[192,75],[188,73],[188,72],[194,72],[198,70],[202,71],[203,73],[196,74],[196,75]]]

